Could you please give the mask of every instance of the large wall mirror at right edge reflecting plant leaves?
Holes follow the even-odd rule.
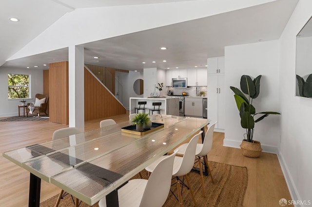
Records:
[[[296,96],[312,98],[312,17],[296,36]]]

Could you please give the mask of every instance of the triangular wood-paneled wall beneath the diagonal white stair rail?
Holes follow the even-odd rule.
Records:
[[[115,77],[113,79],[115,88]],[[123,105],[87,69],[84,69],[84,120],[125,113]]]

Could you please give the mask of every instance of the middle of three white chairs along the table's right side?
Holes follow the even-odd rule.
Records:
[[[194,193],[189,181],[189,177],[188,177],[188,173],[190,173],[190,171],[193,168],[194,165],[194,160],[195,160],[195,151],[196,151],[196,144],[199,138],[199,135],[203,133],[203,131],[200,131],[198,134],[196,134],[189,143],[187,143],[187,147],[186,147],[186,151],[183,155],[183,157],[180,156],[176,156],[175,157],[175,161],[174,161],[174,168],[173,168],[173,172],[172,172],[172,176],[176,177],[176,184],[177,184],[177,193],[178,193],[178,201],[179,201],[179,206],[182,207],[182,190],[180,185],[182,185],[182,189],[183,186],[186,186],[183,181],[179,178],[179,176],[185,176],[187,185],[187,188],[190,189],[191,195],[192,195],[192,200],[194,202],[195,207],[196,205],[196,201],[195,201],[195,197],[194,197]],[[176,153],[177,151],[179,151],[178,149],[176,149],[174,152]],[[163,159],[164,157],[167,157],[167,155],[164,155],[162,157],[160,157],[159,159]],[[151,172],[152,175],[155,173],[155,166],[156,163],[159,162],[159,159],[156,160],[155,162],[153,162],[151,165],[149,165],[148,167],[145,168],[146,171]],[[151,175],[151,176],[152,176]]]

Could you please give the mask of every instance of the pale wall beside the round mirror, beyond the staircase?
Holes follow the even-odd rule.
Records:
[[[119,82],[120,82],[122,89],[123,89],[122,98],[121,98],[120,102],[123,104],[123,106],[126,109],[129,110],[130,97],[143,97],[143,94],[137,95],[133,89],[133,84],[135,83],[135,81],[137,79],[143,79],[143,73],[142,72],[129,71],[129,73],[116,72],[115,75],[119,76]],[[144,81],[144,79],[143,79],[143,81]]]

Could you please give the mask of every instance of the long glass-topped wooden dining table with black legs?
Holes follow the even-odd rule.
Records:
[[[118,207],[119,188],[211,120],[158,115],[152,122],[163,127],[140,136],[122,131],[132,125],[124,121],[2,155],[30,173],[29,207],[39,207],[41,179],[90,206],[106,196]]]

